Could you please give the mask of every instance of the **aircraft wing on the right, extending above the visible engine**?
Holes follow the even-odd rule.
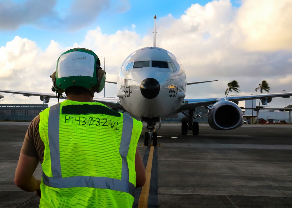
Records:
[[[247,96],[230,96],[230,97],[218,97],[218,98],[193,98],[193,99],[184,99],[184,103],[178,109],[178,112],[195,108],[198,106],[207,106],[213,105],[214,103],[226,99],[227,101],[232,101],[237,103],[238,101],[246,101],[246,100],[255,100],[261,99],[262,103],[264,102],[265,105],[269,103],[272,98],[282,97],[282,98],[289,98],[292,96],[292,92],[288,93],[276,93],[276,94],[262,94],[262,95],[247,95]]]

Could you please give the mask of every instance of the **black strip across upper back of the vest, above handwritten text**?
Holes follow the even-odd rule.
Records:
[[[121,114],[117,111],[109,109],[102,105],[65,105],[61,110],[62,114],[69,115],[90,115],[90,114],[105,114],[109,116],[121,117]]]

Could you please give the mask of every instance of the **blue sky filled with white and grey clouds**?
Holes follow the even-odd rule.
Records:
[[[229,95],[260,94],[263,80],[270,93],[292,92],[291,11],[291,0],[0,0],[0,89],[52,93],[57,59],[74,47],[93,50],[116,82],[129,54],[153,46],[157,15],[156,46],[180,60],[187,82],[218,80],[188,85],[186,98],[224,97],[232,80],[240,92]],[[105,96],[116,94],[106,83]],[[43,102],[14,95],[5,103]],[[284,107],[284,98],[268,105]]]

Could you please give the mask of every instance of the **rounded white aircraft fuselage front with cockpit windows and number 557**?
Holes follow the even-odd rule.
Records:
[[[121,105],[132,116],[164,119],[183,102],[185,71],[172,53],[145,47],[126,58],[119,70],[117,88]]]

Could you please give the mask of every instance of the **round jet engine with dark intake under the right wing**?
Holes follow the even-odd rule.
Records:
[[[236,103],[227,101],[226,99],[218,101],[209,108],[208,122],[216,130],[238,128],[243,124],[241,109]]]

